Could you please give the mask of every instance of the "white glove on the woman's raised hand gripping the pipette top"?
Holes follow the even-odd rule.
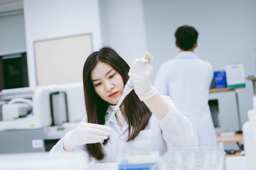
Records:
[[[134,91],[141,101],[146,101],[157,93],[150,82],[153,57],[149,52],[146,52],[146,55],[149,57],[149,62],[145,62],[144,57],[136,59],[128,73],[134,84]]]

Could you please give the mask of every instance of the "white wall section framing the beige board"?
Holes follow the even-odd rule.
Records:
[[[30,86],[36,86],[33,42],[91,33],[92,51],[100,49],[102,38],[97,0],[24,0],[23,7]]]

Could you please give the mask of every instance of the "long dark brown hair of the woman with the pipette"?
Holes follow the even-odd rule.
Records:
[[[129,79],[129,65],[110,47],[102,47],[100,51],[92,52],[85,61],[82,77],[87,121],[88,123],[105,125],[105,114],[110,104],[102,100],[102,98],[96,94],[91,80],[91,72],[97,62],[110,64],[113,69],[122,76],[124,84]],[[127,142],[129,142],[134,140],[141,130],[144,130],[149,122],[149,118],[151,117],[151,112],[149,111],[149,108],[139,100],[134,90],[124,98],[124,112],[127,116],[127,124],[129,127],[127,138]],[[106,143],[107,140],[105,140],[104,145],[106,145]],[[105,153],[103,152],[103,148],[100,143],[87,144],[87,149],[91,156],[98,160],[105,157]]]

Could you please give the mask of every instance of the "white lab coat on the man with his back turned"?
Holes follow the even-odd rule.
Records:
[[[208,106],[213,68],[194,52],[179,52],[174,60],[161,65],[154,82],[159,94],[171,96],[178,111],[194,128],[193,145],[217,143]]]

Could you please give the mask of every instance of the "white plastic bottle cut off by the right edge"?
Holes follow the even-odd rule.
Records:
[[[248,111],[248,119],[243,126],[243,138],[245,145],[245,156],[247,159],[247,169],[256,169],[256,110]]]

